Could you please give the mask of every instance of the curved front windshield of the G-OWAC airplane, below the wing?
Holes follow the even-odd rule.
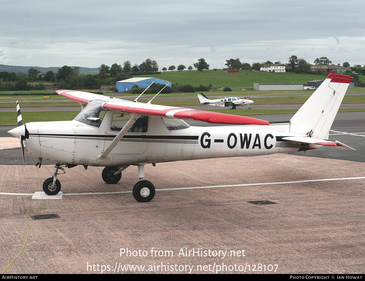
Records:
[[[77,114],[74,120],[99,128],[101,121],[103,121],[104,115],[107,112],[101,107],[103,103],[105,102],[101,100],[92,100],[79,114]]]

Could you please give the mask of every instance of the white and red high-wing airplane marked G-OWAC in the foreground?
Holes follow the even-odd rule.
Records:
[[[139,103],[138,98],[132,102],[57,90],[59,95],[81,105],[81,112],[72,121],[30,122],[9,133],[39,157],[39,166],[42,158],[57,162],[53,176],[43,183],[48,195],[60,191],[57,175],[58,170],[64,173],[64,167],[104,166],[103,180],[117,183],[121,172],[135,165],[139,181],[133,187],[133,196],[139,202],[148,202],[154,197],[155,188],[144,179],[146,164],[306,151],[322,145],[352,149],[338,141],[328,141],[328,132],[351,79],[328,75],[289,124],[153,105],[151,100]],[[195,127],[181,119],[238,126]]]

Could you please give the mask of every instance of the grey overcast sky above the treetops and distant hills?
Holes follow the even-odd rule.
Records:
[[[365,64],[362,0],[1,0],[0,64]]]

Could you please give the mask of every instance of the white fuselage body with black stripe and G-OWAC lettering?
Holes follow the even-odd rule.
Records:
[[[118,133],[113,130],[113,114],[116,113],[107,111],[99,128],[76,120],[27,123],[29,138],[24,144],[35,156],[56,162],[119,167],[140,162],[266,155],[307,149],[281,140],[283,136],[299,136],[289,133],[289,124],[171,129],[162,118],[149,117],[146,132],[126,133],[108,155],[108,160],[100,162],[96,156]]]

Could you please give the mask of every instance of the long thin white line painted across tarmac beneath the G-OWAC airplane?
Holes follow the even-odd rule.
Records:
[[[196,186],[196,187],[176,187],[176,188],[163,188],[156,189],[156,191],[163,190],[179,190],[179,189],[201,189],[201,188],[214,188],[214,187],[234,187],[234,186],[253,186],[253,185],[282,185],[285,183],[301,183],[301,182],[324,182],[324,181],[342,181],[346,179],[365,179],[365,176],[358,176],[354,178],[337,178],[337,179],[308,179],[306,181],[292,181],[292,182],[264,182],[264,183],[243,183],[240,185],[212,185],[212,186]],[[111,191],[111,192],[85,192],[85,193],[63,193],[66,195],[96,195],[96,194],[118,194],[118,193],[131,193],[132,191]],[[6,193],[0,192],[0,195],[34,195],[34,193]]]

